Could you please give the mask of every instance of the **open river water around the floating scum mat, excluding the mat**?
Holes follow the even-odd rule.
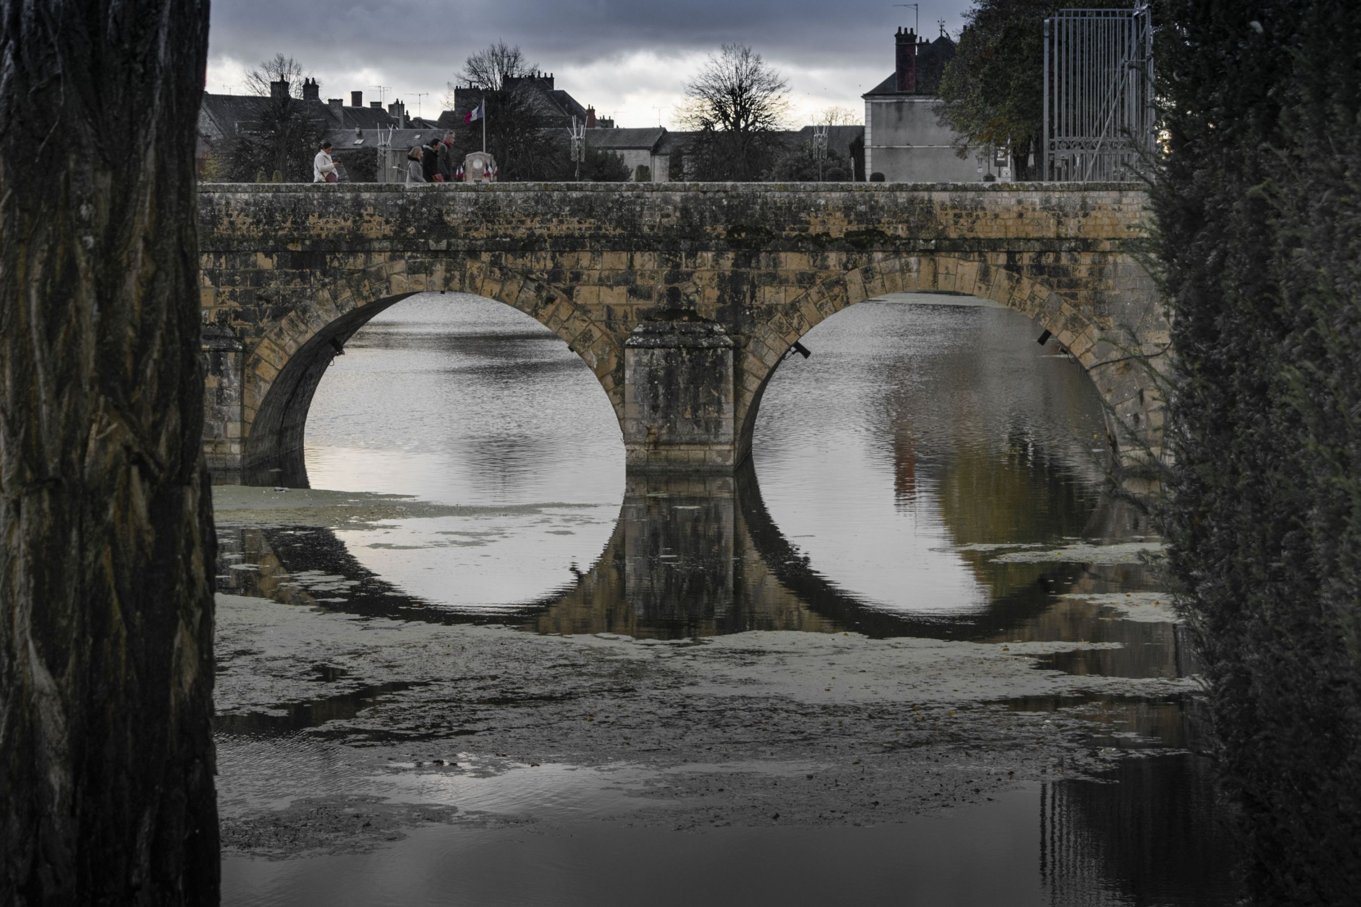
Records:
[[[418,295],[355,335],[321,381],[306,477],[313,490],[455,509],[328,528],[227,519],[219,589],[359,619],[649,640],[751,630],[1079,640],[1036,666],[1185,677],[1195,665],[1147,564],[1157,538],[1101,491],[1100,398],[1038,333],[966,298],[853,306],[803,337],[811,358],[781,363],[750,464],[735,477],[685,480],[626,476],[608,398],[546,328],[491,301]],[[283,802],[321,764],[336,790],[358,783],[306,734],[419,692],[412,681],[366,683],[225,715],[223,774],[280,760],[256,785],[261,802]],[[1041,723],[1051,713],[1086,715],[1074,752],[1135,755],[1101,778],[1037,781],[949,817],[904,815],[872,828],[436,825],[392,853],[229,857],[227,902],[625,904],[644,889],[649,903],[1233,902],[1209,764],[1187,752],[1202,733],[1190,696],[992,706]],[[968,741],[960,745],[968,757]],[[588,816],[592,804],[615,808],[656,783],[629,766],[543,768],[528,786],[514,779],[531,775],[512,771],[436,794],[491,812],[558,804]],[[393,785],[384,797],[397,795]],[[659,874],[676,881],[657,891]]]

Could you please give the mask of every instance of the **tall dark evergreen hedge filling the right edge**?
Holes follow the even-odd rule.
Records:
[[[1356,903],[1361,5],[1172,0],[1162,22],[1172,567],[1253,899]]]

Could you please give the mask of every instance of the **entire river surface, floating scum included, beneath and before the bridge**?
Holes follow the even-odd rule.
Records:
[[[1195,755],[1195,665],[1162,592],[1157,538],[1102,494],[1100,398],[1053,341],[1036,343],[1038,333],[972,298],[853,306],[803,339],[811,358],[781,364],[747,468],[678,480],[626,476],[604,392],[528,317],[460,294],[414,296],[380,314],[332,363],[312,404],[313,491],[219,490],[220,787],[227,825],[246,829],[227,835],[225,903],[448,903],[450,892],[478,904],[623,904],[640,892],[655,903],[1233,903],[1226,820],[1209,761]],[[267,506],[287,515],[261,515]],[[380,642],[397,631],[406,642]],[[1029,733],[1022,725],[1037,736],[989,744],[984,725],[925,736],[916,752],[893,756],[925,761],[883,763],[886,793],[872,806],[836,819],[825,794],[788,793],[773,820],[755,820],[713,805],[712,778],[735,778],[716,790],[743,795],[753,778],[821,781],[841,771],[842,748],[902,721],[927,723],[925,713],[908,711],[917,700],[896,702],[902,715],[886,704],[876,717],[860,704],[887,695],[872,683],[837,699],[836,676],[818,674],[772,692],[772,708],[844,707],[827,711],[825,726],[863,722],[855,734],[837,744],[802,732],[772,738],[743,751],[739,766],[738,732],[675,713],[687,695],[675,689],[700,695],[720,684],[708,668],[683,681],[667,674],[675,687],[663,694],[637,679],[652,668],[630,669],[619,685],[621,662],[610,662],[617,692],[602,692],[592,710],[627,711],[614,703],[630,696],[672,710],[656,722],[663,737],[652,755],[634,748],[621,757],[576,742],[558,713],[523,737],[512,728],[531,711],[525,703],[547,695],[535,672],[548,672],[547,687],[587,685],[604,676],[595,668],[524,654],[508,672],[520,672],[514,683],[478,687],[486,703],[474,721],[463,661],[434,674],[429,655],[401,666],[414,646],[471,660],[464,653],[486,646],[509,653],[554,640],[612,646],[617,660],[649,643],[649,653],[686,657],[686,646],[700,646],[700,658],[731,655],[728,638],[762,664],[770,660],[750,653],[802,640],[819,664],[841,665],[827,670],[868,672],[867,681],[901,687],[924,670],[935,692],[923,706],[968,703],[942,719],[968,708],[998,740]],[[826,647],[851,645],[859,654],[837,649],[823,660]],[[969,647],[987,653],[977,660],[987,670],[994,655],[1006,670],[1019,661],[1013,654],[1030,660],[1006,681],[875,662],[900,646]],[[363,661],[374,653],[387,653],[387,666]],[[747,702],[751,683],[795,684],[789,677],[811,664],[709,692]],[[264,674],[272,685],[261,687]],[[456,683],[457,692],[431,692]],[[807,704],[823,683],[829,702]],[[789,711],[791,728],[811,714]],[[445,726],[450,714],[464,725]],[[671,722],[686,730],[667,737]],[[618,745],[657,730],[646,725]],[[710,732],[706,748],[694,742]],[[543,761],[479,751],[479,738],[525,753],[542,747]],[[430,753],[408,752],[415,741]],[[863,759],[847,755],[844,766],[860,767],[860,781]],[[381,772],[354,774],[363,760]],[[906,805],[917,794],[902,781],[905,766],[938,763],[987,774],[992,787],[964,785],[968,805],[954,794]],[[682,768],[683,781],[667,774]],[[442,772],[442,786],[430,786],[431,772]],[[710,779],[702,790],[693,781],[701,775]],[[369,785],[363,802],[378,804],[362,827],[391,827],[391,838],[260,838],[269,810],[276,825],[284,816],[301,828],[299,804],[325,812],[325,798],[354,790],[351,781]],[[897,795],[889,787],[902,790],[897,812],[881,810]],[[637,813],[660,789],[675,800],[655,810],[663,819]],[[396,802],[461,809],[461,819],[384,812]],[[347,804],[344,815],[366,815]]]

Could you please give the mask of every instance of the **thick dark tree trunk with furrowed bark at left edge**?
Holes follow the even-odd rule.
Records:
[[[207,0],[0,3],[0,903],[218,899]]]

